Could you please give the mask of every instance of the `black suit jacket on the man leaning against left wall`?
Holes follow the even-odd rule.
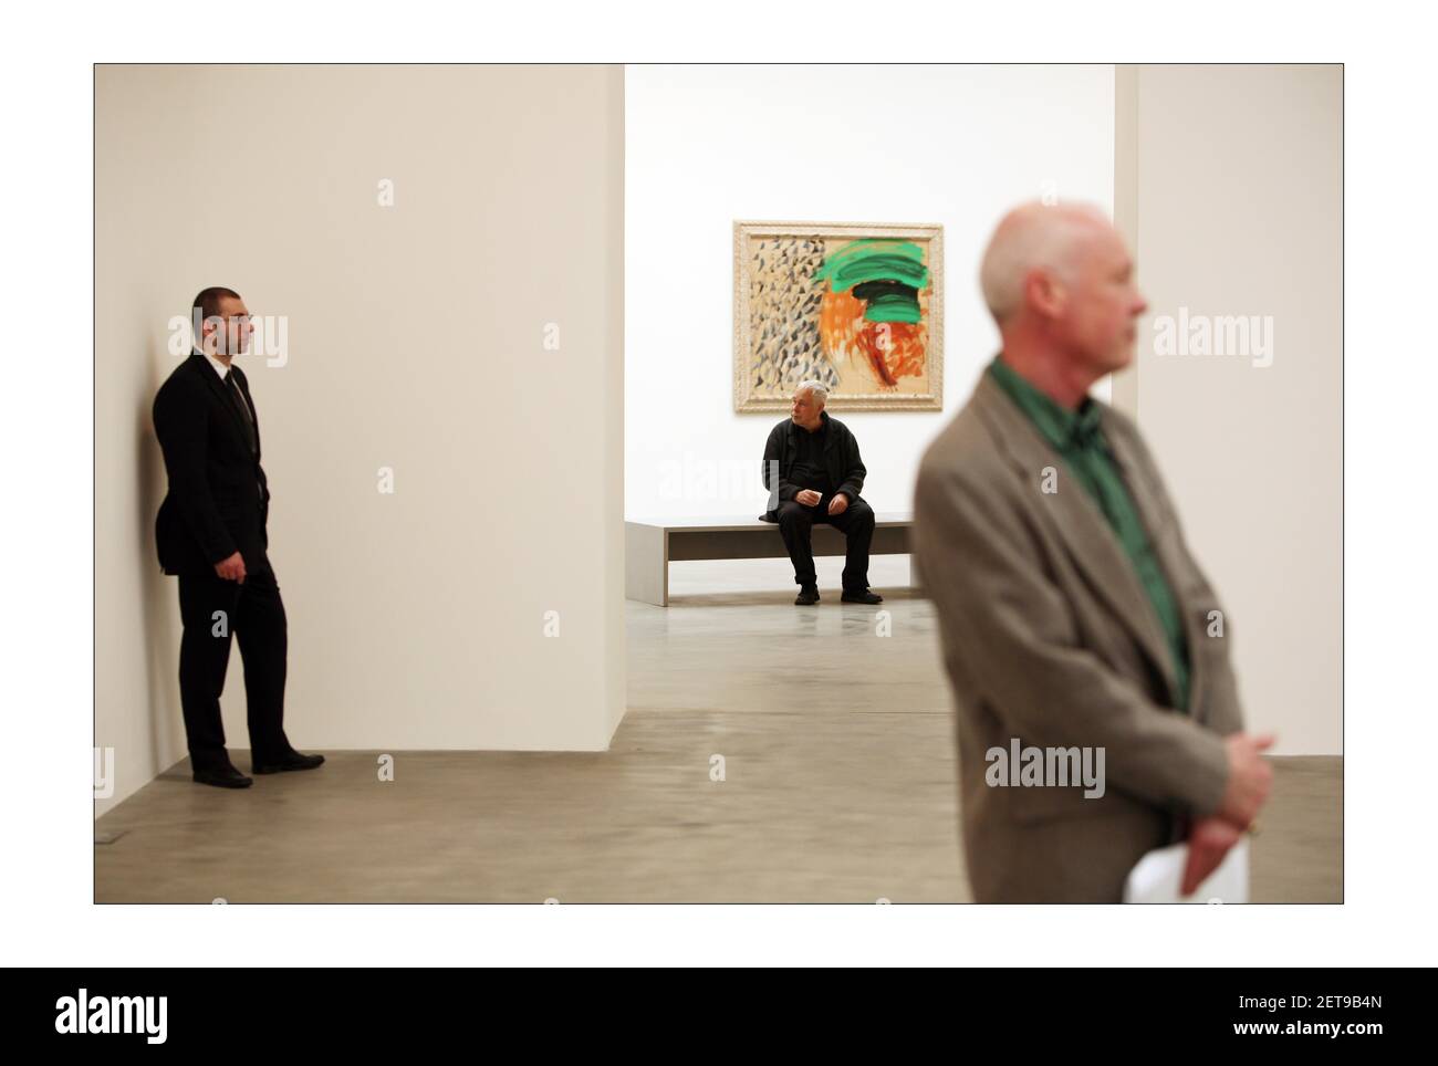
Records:
[[[255,421],[244,371],[232,366]],[[170,491],[155,519],[160,567],[174,575],[213,575],[236,552],[244,569],[267,567],[269,486],[259,454],[250,454],[244,415],[201,352],[193,352],[155,394],[154,421],[165,455]]]

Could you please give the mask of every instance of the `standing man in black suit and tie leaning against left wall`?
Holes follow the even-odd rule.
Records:
[[[253,326],[239,293],[206,289],[194,297],[197,348],[155,395],[155,435],[170,491],[155,519],[160,566],[180,579],[180,703],[194,780],[244,789],[252,780],[230,763],[220,692],[230,662],[230,632],[244,662],[253,773],[312,770],[285,737],[285,603],[266,549],[269,487],[260,432],[244,372]]]

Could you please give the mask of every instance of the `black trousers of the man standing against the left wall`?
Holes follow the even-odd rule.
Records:
[[[223,613],[219,613],[223,612]],[[250,761],[290,750],[285,737],[285,603],[275,572],[247,573],[244,583],[217,575],[180,576],[180,705],[196,770],[227,766],[220,692],[230,662],[230,634],[240,638],[250,728]]]

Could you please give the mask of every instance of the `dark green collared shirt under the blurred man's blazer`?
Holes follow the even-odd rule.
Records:
[[[1183,618],[1173,598],[1173,589],[1153,553],[1153,544],[1149,543],[1137,507],[1133,506],[1133,497],[1129,496],[1129,488],[1123,484],[1119,467],[1113,461],[1109,442],[1103,438],[1103,411],[1089,397],[1084,397],[1077,411],[1070,411],[1030,385],[999,356],[989,363],[988,372],[1058,453],[1074,480],[1084,487],[1119,537],[1163,626],[1173,659],[1173,677],[1178,680],[1178,710],[1186,711],[1189,659]]]

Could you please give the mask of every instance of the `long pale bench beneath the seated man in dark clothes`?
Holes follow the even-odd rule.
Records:
[[[870,555],[909,555],[913,516],[874,514]],[[815,556],[844,555],[844,534],[828,523],[814,523]],[[628,519],[624,522],[624,596],[669,606],[669,565],[687,559],[787,559],[775,522],[762,519]],[[917,586],[913,563],[909,582]]]

